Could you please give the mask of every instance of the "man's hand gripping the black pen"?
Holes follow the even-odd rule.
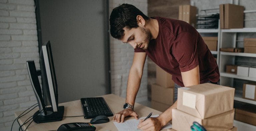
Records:
[[[162,128],[161,122],[158,117],[149,117],[145,121],[141,119],[137,126],[138,129],[145,131],[159,131]]]

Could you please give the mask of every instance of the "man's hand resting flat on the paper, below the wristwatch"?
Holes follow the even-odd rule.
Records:
[[[114,114],[113,120],[115,120],[116,122],[124,122],[124,118],[126,116],[134,116],[135,119],[138,120],[138,114],[132,109],[132,108],[127,108],[124,109],[118,113]]]

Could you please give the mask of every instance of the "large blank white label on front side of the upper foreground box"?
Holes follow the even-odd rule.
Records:
[[[188,106],[190,108],[195,109],[196,108],[196,95],[191,94],[191,93],[187,93],[187,92],[183,92],[182,104],[184,106]]]

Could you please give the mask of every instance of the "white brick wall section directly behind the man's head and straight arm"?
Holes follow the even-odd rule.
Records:
[[[109,0],[109,15],[115,7],[123,3],[134,5],[147,15],[147,0]],[[126,97],[126,85],[133,54],[134,49],[129,44],[126,45],[110,35],[111,92],[123,98]],[[145,100],[147,100],[147,61],[136,102]]]

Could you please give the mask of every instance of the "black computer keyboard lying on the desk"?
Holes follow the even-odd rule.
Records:
[[[84,118],[89,119],[99,115],[113,116],[108,104],[102,97],[81,98]]]

